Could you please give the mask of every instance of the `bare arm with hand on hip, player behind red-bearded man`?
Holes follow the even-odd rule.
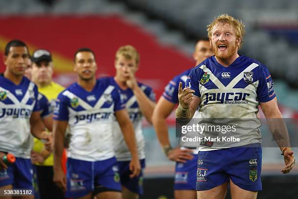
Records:
[[[174,110],[175,104],[166,100],[163,96],[158,100],[152,115],[152,123],[159,140],[168,159],[172,161],[186,162],[192,159],[191,149],[172,148],[168,139],[168,125],[166,119]]]

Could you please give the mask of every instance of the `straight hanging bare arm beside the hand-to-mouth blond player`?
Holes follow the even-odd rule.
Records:
[[[130,171],[132,172],[130,178],[133,178],[138,176],[141,171],[133,126],[126,109],[116,111],[115,116],[123,133],[124,140],[130,149]]]

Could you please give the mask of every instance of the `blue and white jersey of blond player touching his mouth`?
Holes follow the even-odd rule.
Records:
[[[133,95],[133,92],[130,88],[123,90],[118,86],[118,84],[115,82],[113,77],[110,77],[110,80],[112,82],[112,85],[117,86],[118,89],[120,90],[121,99],[125,103],[127,111],[129,113],[130,120],[132,122],[134,133],[135,133],[139,159],[145,159],[145,151],[144,151],[145,139],[144,139],[143,130],[142,130],[143,115],[141,113],[136,97]],[[155,101],[155,94],[152,88],[140,82],[138,82],[138,85],[150,100]],[[130,150],[124,141],[120,126],[116,121],[115,121],[115,124],[113,125],[113,137],[114,137],[114,140],[113,140],[114,150],[115,150],[117,160],[118,161],[130,160],[131,159]]]

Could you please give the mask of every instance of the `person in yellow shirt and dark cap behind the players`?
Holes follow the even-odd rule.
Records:
[[[64,90],[64,87],[52,80],[53,62],[50,51],[37,49],[33,52],[31,60],[31,80],[37,84],[38,92],[54,104],[58,94]],[[50,122],[49,125],[52,125],[52,119]],[[36,167],[40,199],[64,199],[62,191],[53,182],[53,154],[47,151],[44,144],[38,139],[34,139],[31,159]]]

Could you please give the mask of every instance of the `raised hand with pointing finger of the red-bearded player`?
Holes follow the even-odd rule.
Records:
[[[200,98],[193,97],[194,92],[194,90],[191,90],[188,87],[182,89],[182,82],[179,83],[179,106],[175,112],[176,118],[191,119],[194,116],[195,111],[197,110],[201,101]]]

